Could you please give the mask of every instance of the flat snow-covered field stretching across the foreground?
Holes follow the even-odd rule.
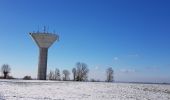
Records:
[[[170,100],[170,85],[0,80],[0,100]]]

